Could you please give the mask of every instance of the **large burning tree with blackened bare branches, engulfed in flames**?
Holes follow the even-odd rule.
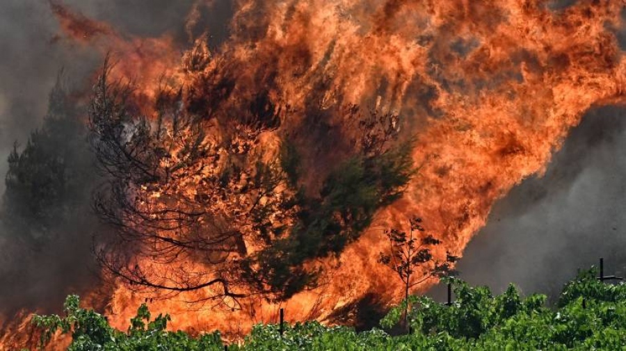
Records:
[[[195,83],[159,89],[153,105],[109,65],[95,85],[90,142],[108,181],[94,208],[116,229],[99,262],[131,287],[230,307],[315,286],[320,270],[305,263],[342,252],[412,175],[398,117],[347,108],[358,138],[314,190],[268,93],[234,97],[226,74],[198,67],[209,60],[187,60]]]

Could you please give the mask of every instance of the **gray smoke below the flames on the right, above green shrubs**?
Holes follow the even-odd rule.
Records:
[[[495,293],[514,283],[551,300],[577,269],[626,276],[626,108],[588,112],[554,155],[493,208],[467,246],[460,278]],[[444,298],[442,287],[432,293]]]

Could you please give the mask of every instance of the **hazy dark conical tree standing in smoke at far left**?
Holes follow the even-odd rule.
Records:
[[[8,157],[0,218],[21,243],[41,250],[62,224],[88,203],[93,176],[86,128],[63,87],[63,74],[51,90],[42,127]],[[87,194],[87,195],[86,195]],[[76,221],[74,221],[76,222]]]

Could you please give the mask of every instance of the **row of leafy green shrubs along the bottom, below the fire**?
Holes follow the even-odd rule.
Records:
[[[511,285],[493,296],[484,287],[460,280],[456,301],[447,306],[429,297],[410,296],[383,318],[390,328],[408,309],[412,334],[392,336],[383,329],[355,332],[351,327],[326,327],[317,322],[257,325],[241,345],[229,350],[621,350],[626,345],[625,284],[604,284],[593,270],[565,284],[554,308],[544,295],[522,297]],[[42,344],[57,332],[72,334],[68,350],[223,350],[219,332],[198,338],[168,332],[168,315],[151,320],[142,305],[127,332],[113,329],[106,318],[79,307],[79,297],[65,302],[65,316],[34,316]]]

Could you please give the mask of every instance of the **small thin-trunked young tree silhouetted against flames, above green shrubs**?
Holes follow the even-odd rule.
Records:
[[[447,253],[442,261],[433,256],[431,250],[441,240],[425,235],[422,218],[409,220],[409,231],[388,229],[385,236],[389,238],[390,251],[380,252],[378,262],[391,268],[401,279],[404,286],[404,298],[408,301],[410,289],[427,279],[447,277],[454,273],[452,265],[458,261],[457,256]],[[421,273],[421,274],[420,274]],[[408,304],[405,318],[408,317]]]

